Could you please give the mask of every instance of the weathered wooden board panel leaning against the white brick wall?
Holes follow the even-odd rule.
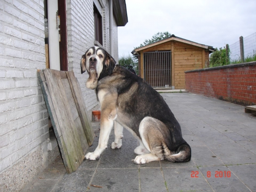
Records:
[[[64,166],[72,173],[95,136],[81,88],[73,71],[38,70],[38,77]]]

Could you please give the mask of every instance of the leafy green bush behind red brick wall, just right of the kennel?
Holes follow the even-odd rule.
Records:
[[[230,50],[228,50],[228,55],[226,57],[226,48],[220,47],[216,48],[215,51],[210,56],[210,66],[209,67],[218,67],[223,65],[230,64]]]

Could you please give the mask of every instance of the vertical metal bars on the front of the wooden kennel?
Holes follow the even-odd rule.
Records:
[[[171,51],[144,52],[144,79],[152,87],[171,87]]]

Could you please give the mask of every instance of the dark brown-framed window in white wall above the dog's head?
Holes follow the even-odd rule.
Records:
[[[93,4],[93,14],[94,14],[94,29],[95,29],[95,41],[98,41],[103,45],[102,41],[102,16],[100,15],[98,9]]]

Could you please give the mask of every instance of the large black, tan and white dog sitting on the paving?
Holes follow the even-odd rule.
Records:
[[[101,106],[99,144],[94,152],[85,155],[96,160],[107,148],[114,125],[115,140],[111,148],[122,146],[123,127],[139,141],[134,149],[138,156],[134,163],[156,160],[187,162],[191,148],[182,138],[180,124],[172,111],[146,81],[131,73],[104,49],[91,47],[81,58],[81,73],[87,70],[86,87],[96,89]]]

